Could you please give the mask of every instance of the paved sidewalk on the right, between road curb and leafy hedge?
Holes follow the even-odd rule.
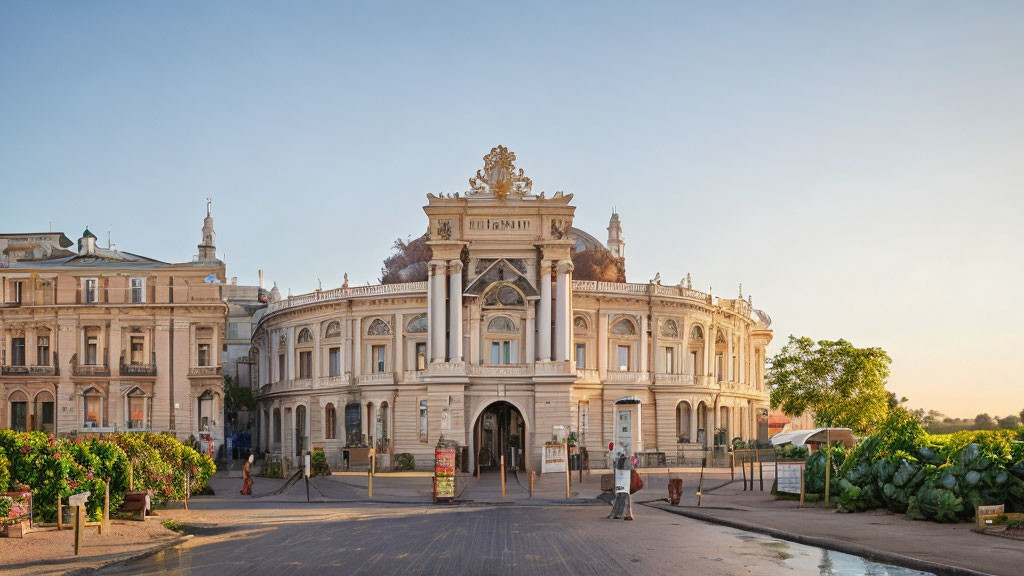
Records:
[[[766,468],[767,472],[768,469]],[[634,497],[687,518],[768,534],[777,538],[853,553],[936,574],[1006,574],[1024,572],[1020,542],[972,532],[970,523],[938,524],[913,521],[884,510],[844,513],[821,504],[799,507],[794,500],[776,500],[773,479],[765,477],[765,491],[742,490],[728,475],[705,478],[700,507],[696,484],[686,477],[679,506],[668,504],[667,477],[645,478],[644,490]]]

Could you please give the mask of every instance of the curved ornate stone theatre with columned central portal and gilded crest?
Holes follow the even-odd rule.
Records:
[[[252,340],[261,450],[335,463],[367,442],[422,466],[443,436],[471,465],[540,470],[566,434],[598,461],[609,442],[675,454],[759,435],[768,317],[688,277],[573,280],[573,250],[625,257],[618,215],[601,246],[572,228],[571,195],[534,194],[514,161],[498,147],[470,190],[427,195],[427,281],[270,303]]]

